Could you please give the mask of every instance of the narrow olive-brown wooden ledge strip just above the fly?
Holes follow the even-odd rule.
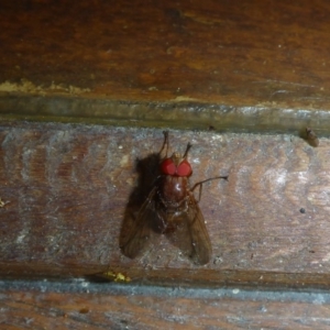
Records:
[[[40,121],[117,127],[304,135],[306,127],[329,138],[327,110],[276,105],[233,107],[198,102],[124,102],[82,97],[0,97],[0,121]]]

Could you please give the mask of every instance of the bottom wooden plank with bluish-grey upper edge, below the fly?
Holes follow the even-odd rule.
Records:
[[[0,283],[6,329],[329,329],[329,294]]]

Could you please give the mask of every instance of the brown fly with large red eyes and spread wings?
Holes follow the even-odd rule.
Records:
[[[228,176],[209,178],[190,188],[190,147],[191,144],[188,143],[183,156],[175,152],[167,157],[168,132],[164,132],[164,144],[160,151],[160,175],[121,246],[124,255],[134,258],[146,246],[151,235],[158,233],[165,234],[194,263],[204,265],[209,262],[211,242],[194,190],[199,187],[200,199],[204,183],[216,178],[227,179]]]

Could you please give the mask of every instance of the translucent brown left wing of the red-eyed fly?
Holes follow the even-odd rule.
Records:
[[[130,223],[131,228],[129,229],[127,240],[121,246],[123,254],[128,257],[134,258],[138,256],[150,240],[153,221],[157,217],[154,200],[155,194],[156,187],[153,188],[142,205],[136,219]]]

